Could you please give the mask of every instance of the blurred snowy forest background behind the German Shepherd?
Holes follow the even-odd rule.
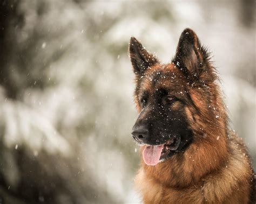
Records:
[[[0,2],[0,203],[137,203],[131,36],[169,62],[190,27],[255,149],[255,1]]]

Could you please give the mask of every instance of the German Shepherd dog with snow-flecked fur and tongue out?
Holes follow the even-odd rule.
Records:
[[[217,74],[194,31],[161,64],[130,41],[139,116],[132,137],[142,152],[135,179],[144,203],[255,203],[245,145],[228,129]]]

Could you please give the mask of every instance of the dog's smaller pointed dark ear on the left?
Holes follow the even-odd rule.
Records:
[[[134,37],[131,37],[129,52],[135,74],[143,74],[147,68],[158,63],[154,55],[148,53]]]

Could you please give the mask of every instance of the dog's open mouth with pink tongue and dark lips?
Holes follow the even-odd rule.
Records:
[[[142,153],[145,164],[154,166],[169,158],[171,152],[179,148],[180,140],[180,136],[173,136],[164,144],[146,145]]]

